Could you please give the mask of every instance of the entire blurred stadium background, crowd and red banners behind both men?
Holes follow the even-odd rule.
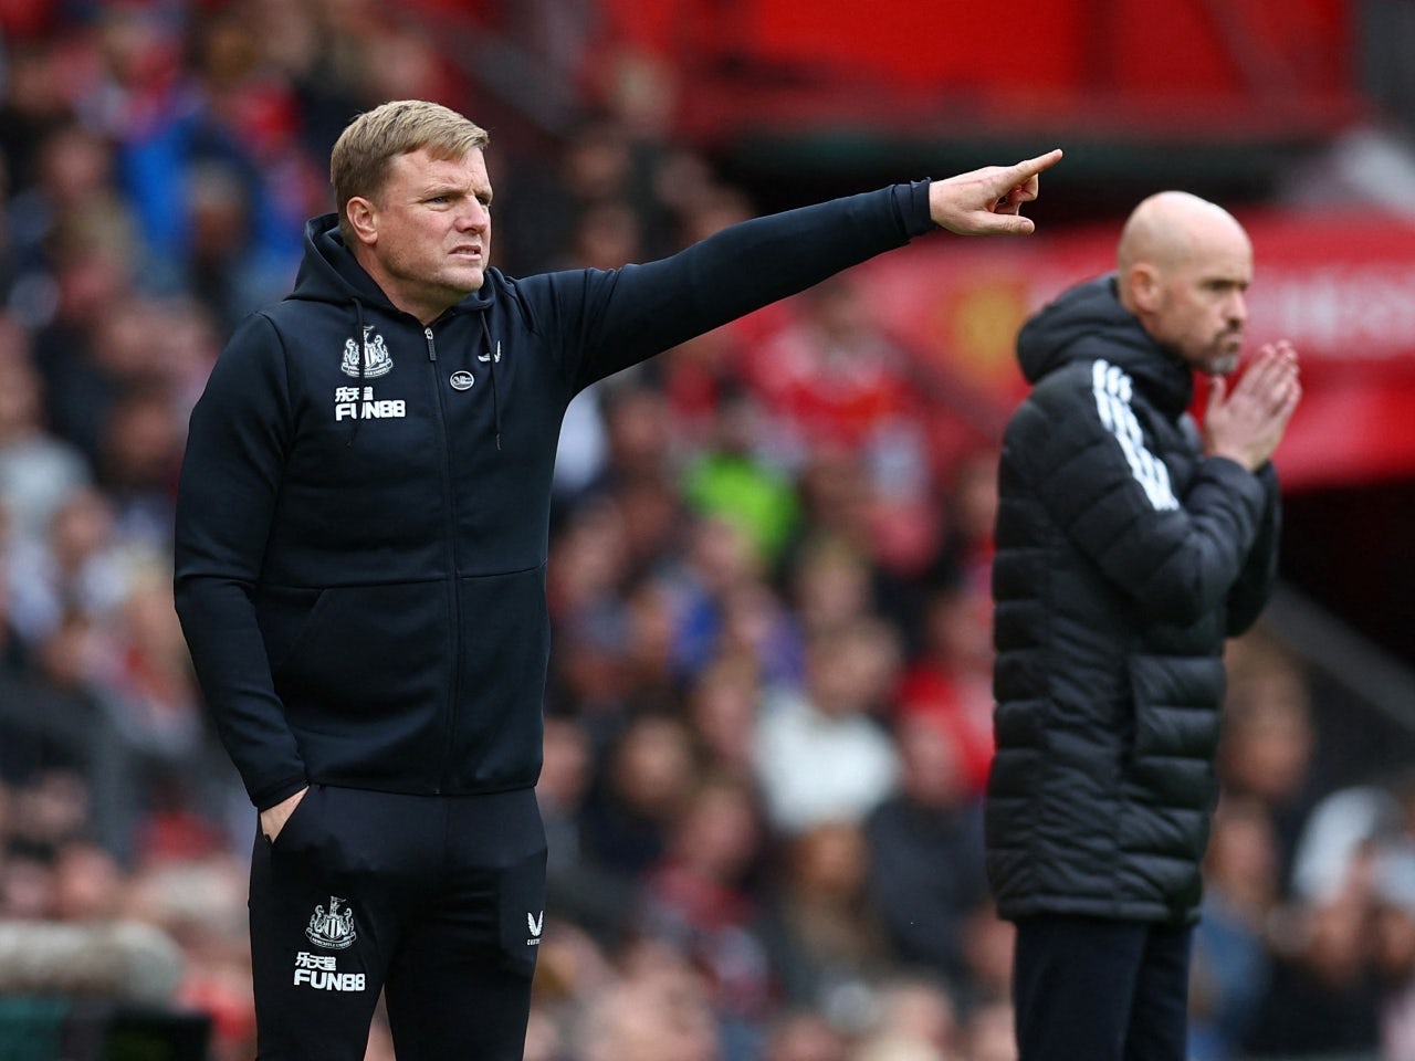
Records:
[[[0,0],[0,1057],[253,1057],[175,472],[335,136],[417,96],[491,132],[512,274],[1067,151],[1030,239],[917,240],[572,406],[528,1061],[1015,1057],[978,835],[1012,340],[1162,188],[1248,226],[1306,392],[1191,1057],[1415,1058],[1412,57],[1412,0]]]

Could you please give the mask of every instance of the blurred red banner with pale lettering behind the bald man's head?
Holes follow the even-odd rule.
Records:
[[[1249,354],[1286,337],[1305,398],[1278,467],[1288,489],[1415,475],[1415,221],[1242,215],[1257,255]],[[1024,317],[1114,267],[1118,225],[1023,240],[925,239],[856,269],[883,325],[961,392],[1010,409]]]

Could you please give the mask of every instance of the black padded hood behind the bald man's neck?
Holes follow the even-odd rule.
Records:
[[[1017,334],[1017,362],[1033,385],[1065,365],[1101,358],[1124,369],[1173,416],[1194,396],[1193,372],[1156,345],[1135,314],[1121,306],[1114,273],[1068,289]]]

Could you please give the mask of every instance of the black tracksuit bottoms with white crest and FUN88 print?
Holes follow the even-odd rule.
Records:
[[[250,862],[259,1061],[362,1061],[379,992],[399,1061],[521,1061],[545,856],[531,788],[311,787]]]

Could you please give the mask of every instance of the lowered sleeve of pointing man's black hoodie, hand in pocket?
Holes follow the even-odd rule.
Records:
[[[177,494],[177,614],[208,710],[252,802],[304,787],[253,587],[291,437],[282,344],[263,315],[231,337],[191,414]]]

